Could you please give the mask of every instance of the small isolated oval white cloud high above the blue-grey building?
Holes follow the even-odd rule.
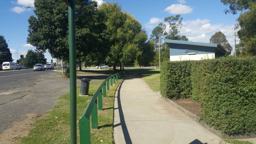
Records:
[[[193,9],[188,5],[183,4],[172,4],[171,6],[165,8],[165,11],[170,14],[189,14],[193,12]]]

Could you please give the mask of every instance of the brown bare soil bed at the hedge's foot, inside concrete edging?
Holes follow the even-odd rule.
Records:
[[[202,111],[202,106],[198,102],[191,101],[191,99],[172,99],[172,101],[195,114],[196,116],[198,116],[198,114]]]

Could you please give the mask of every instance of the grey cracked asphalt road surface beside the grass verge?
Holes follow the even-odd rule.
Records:
[[[91,79],[91,83],[105,79],[107,75],[87,74],[80,78]],[[0,71],[0,133],[14,122],[22,121],[29,114],[41,114],[52,109],[61,95],[69,93],[69,79],[53,70],[32,69]]]

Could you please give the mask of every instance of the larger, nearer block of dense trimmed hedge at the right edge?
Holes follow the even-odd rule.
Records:
[[[198,61],[191,80],[207,124],[230,135],[256,133],[256,58]]]

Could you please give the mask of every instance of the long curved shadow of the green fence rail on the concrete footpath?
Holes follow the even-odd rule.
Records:
[[[125,80],[123,80],[124,82]],[[120,126],[122,127],[123,130],[123,134],[124,134],[124,140],[126,144],[132,144],[132,140],[131,137],[129,135],[127,126],[125,124],[125,120],[124,120],[124,113],[123,113],[123,109],[122,109],[122,105],[121,105],[121,100],[120,100],[120,90],[122,87],[123,82],[121,82],[119,88],[118,88],[118,92],[117,92],[117,105],[118,105],[118,111],[119,111],[119,117],[120,117],[120,123],[116,124],[113,126],[113,128]]]

